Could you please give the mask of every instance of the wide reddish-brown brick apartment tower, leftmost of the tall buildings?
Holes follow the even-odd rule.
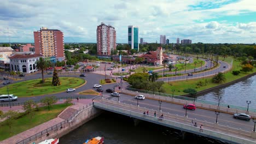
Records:
[[[40,31],[34,32],[35,53],[44,57],[56,57],[56,61],[63,61],[64,40],[63,33],[58,29],[40,28]]]

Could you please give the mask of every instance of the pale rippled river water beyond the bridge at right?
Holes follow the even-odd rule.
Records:
[[[216,101],[220,103],[247,107],[246,100],[252,101],[249,107],[256,109],[256,75],[225,88],[216,89],[210,93],[198,95],[198,99]]]

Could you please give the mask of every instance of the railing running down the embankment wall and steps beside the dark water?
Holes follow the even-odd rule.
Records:
[[[67,123],[71,122],[73,120],[73,118],[75,116],[77,116],[82,110],[88,109],[91,106],[92,106],[92,104],[90,103],[89,105],[83,106],[82,109],[80,107],[80,109],[76,113],[74,113],[73,117],[71,117],[71,119],[67,119],[67,120],[65,120],[61,123],[58,123],[58,124],[54,125],[53,127],[47,128],[43,131],[40,131],[39,133],[37,133],[35,135],[32,135],[32,136],[28,137],[27,139],[24,139],[20,142],[17,142],[16,144],[28,143],[28,142],[31,142],[32,140],[36,140],[38,137],[43,136],[45,134],[49,135],[50,131],[53,131],[53,130],[58,129],[58,128],[62,129],[64,126],[66,126]]]

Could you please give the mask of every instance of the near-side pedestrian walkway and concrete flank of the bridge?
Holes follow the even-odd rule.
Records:
[[[213,139],[224,140],[232,143],[256,143],[256,133],[254,133],[253,131],[231,128],[225,125],[219,125],[206,121],[199,121],[197,119],[192,119],[185,116],[172,115],[170,113],[158,111],[158,116],[160,116],[161,113],[164,114],[164,119],[160,119],[159,117],[154,117],[153,113],[155,112],[155,110],[149,110],[130,104],[118,103],[118,101],[112,101],[107,99],[103,99],[102,102],[107,104],[94,103],[94,106],[100,109],[120,113],[122,115],[142,119],[144,121],[165,125],[166,127],[171,127],[183,131],[188,131],[194,134],[211,137]],[[144,116],[143,112],[148,110],[149,115]],[[190,125],[191,120],[196,122],[199,126],[203,124],[203,133],[199,131],[199,127],[194,127]]]

